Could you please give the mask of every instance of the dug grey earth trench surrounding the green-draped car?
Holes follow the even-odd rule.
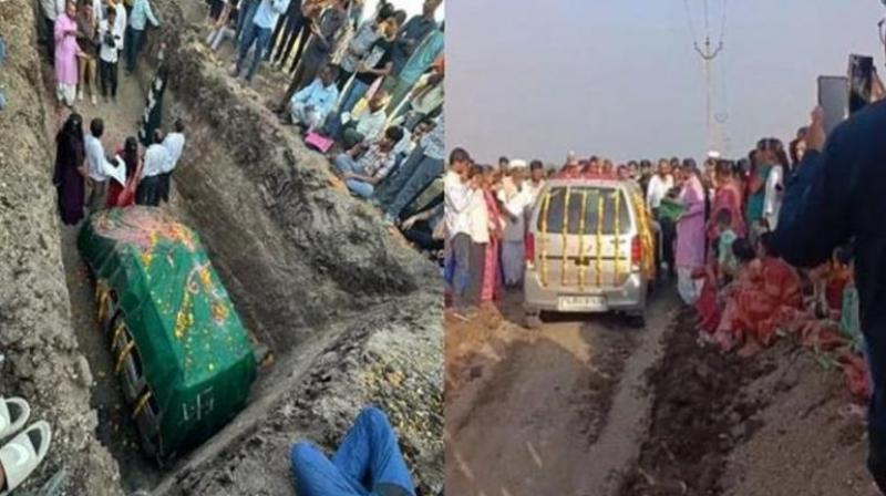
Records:
[[[30,8],[17,3],[24,2],[0,6],[3,24],[21,28],[17,45],[31,64],[38,64],[35,23]],[[435,268],[389,231],[375,211],[350,197],[330,175],[326,158],[281,127],[257,93],[227,75],[226,65],[199,41],[203,18],[195,3],[153,3],[164,24],[151,33],[145,62],[135,76],[121,72],[120,108],[92,112],[84,106],[83,113],[87,118],[102,116],[109,128],[119,128],[105,140],[109,143],[134,133],[144,89],[156,70],[158,44],[167,44],[164,125],[182,118],[187,127],[168,208],[200,235],[238,313],[269,360],[259,371],[248,406],[226,428],[172,466],[158,468],[142,457],[121,404],[110,353],[95,326],[92,288],[76,254],[75,230],[59,229],[54,192],[41,194],[31,202],[31,215],[39,221],[11,217],[9,231],[29,225],[39,235],[34,242],[55,254],[40,262],[59,297],[66,292],[68,301],[58,307],[71,311],[62,312],[54,323],[68,340],[64,347],[71,356],[48,370],[45,382],[66,374],[81,396],[71,393],[62,403],[73,402],[91,423],[60,430],[85,441],[62,444],[32,485],[61,466],[73,466],[65,483],[71,494],[135,489],[164,495],[291,494],[291,443],[308,438],[333,448],[359,410],[372,403],[391,417],[419,486],[424,492],[439,489],[443,353]],[[32,177],[8,185],[20,188],[12,193],[22,202],[28,184],[50,184],[52,157],[47,144],[61,115],[53,118],[47,104],[52,96],[48,78],[51,73],[44,71],[42,81],[31,78],[22,84],[32,93],[28,97],[43,102],[41,108],[49,115],[35,113],[34,122],[29,122],[37,124],[32,141],[40,157],[25,167]],[[13,270],[14,262],[11,259],[3,269]],[[60,272],[62,268],[65,272]],[[66,273],[66,291],[60,273]],[[13,297],[9,301],[16,301]],[[3,345],[8,344],[21,345],[4,339]],[[4,391],[45,399],[47,414],[70,416],[53,405],[58,395],[69,393],[53,396],[49,390],[14,385],[28,384],[18,380],[29,370],[17,353],[10,355],[13,385]],[[81,459],[84,444],[104,456],[97,468],[101,457]]]

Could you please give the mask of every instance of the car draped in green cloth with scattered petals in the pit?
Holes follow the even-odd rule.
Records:
[[[164,463],[243,410],[256,378],[249,334],[199,237],[152,207],[90,217],[78,248],[144,452]]]

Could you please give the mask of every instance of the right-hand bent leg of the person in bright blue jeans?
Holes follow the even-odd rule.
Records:
[[[348,477],[369,483],[367,490],[374,490],[379,484],[392,484],[415,494],[393,427],[378,409],[360,412],[332,463]]]

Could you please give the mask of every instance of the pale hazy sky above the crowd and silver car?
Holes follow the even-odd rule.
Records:
[[[703,0],[687,0],[703,37]],[[723,0],[709,0],[719,38]],[[476,157],[703,156],[702,64],[683,0],[457,1],[446,12],[446,141]],[[731,0],[715,75],[731,152],[787,141],[821,74],[883,71],[878,0]],[[725,78],[721,78],[725,75]],[[725,97],[723,96],[725,95]]]

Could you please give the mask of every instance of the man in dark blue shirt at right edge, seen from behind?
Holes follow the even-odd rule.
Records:
[[[868,469],[886,492],[886,102],[853,115],[824,137],[821,108],[806,154],[787,183],[774,244],[800,267],[827,261],[854,239],[855,281],[874,394],[868,411]]]

